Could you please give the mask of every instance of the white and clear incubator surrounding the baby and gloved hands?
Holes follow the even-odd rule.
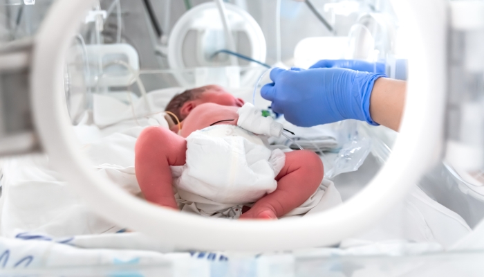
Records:
[[[0,0],[0,267],[478,276],[483,12],[478,0]],[[354,120],[297,127],[272,112],[259,92],[268,70],[322,59],[380,62],[408,80],[400,132]],[[136,139],[176,129],[171,98],[207,84],[252,103],[241,125],[267,143],[319,154],[313,206],[244,221],[143,199]]]

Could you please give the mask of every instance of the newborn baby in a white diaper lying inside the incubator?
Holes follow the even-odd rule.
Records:
[[[205,100],[212,97],[211,100],[215,100],[214,102],[222,102],[222,99],[227,106],[203,102],[204,97],[201,95],[194,99],[198,102],[190,104],[192,107],[183,119],[178,134],[162,127],[148,127],[140,134],[135,149],[136,178],[149,202],[178,208],[172,188],[174,183],[171,166],[184,168],[181,177],[175,182],[177,188],[191,188],[194,192],[197,188],[201,190],[206,187],[212,190],[220,188],[218,193],[212,191],[203,196],[212,197],[214,198],[212,200],[220,202],[224,201],[224,193],[227,192],[227,201],[230,203],[234,203],[237,196],[240,201],[255,202],[252,208],[243,213],[240,218],[277,219],[303,204],[315,193],[324,173],[322,161],[317,154],[306,150],[285,154],[280,150],[269,150],[259,136],[237,126],[239,123],[237,111],[243,101],[236,100],[220,87],[212,86],[208,91],[210,93],[207,93],[209,96],[205,96]],[[217,93],[221,97],[217,98]],[[183,107],[183,104],[180,106]],[[206,141],[209,143],[204,144]],[[208,147],[212,142],[221,143],[222,146],[227,145],[227,150],[223,147]],[[240,148],[231,148],[232,144],[239,145]],[[207,157],[205,162],[204,155],[201,154],[204,151]],[[227,152],[227,157],[242,157],[242,159],[225,159],[221,161],[222,164],[216,164],[218,162],[214,161],[213,157],[210,158],[214,152],[224,151]],[[236,152],[236,155],[233,152]],[[261,161],[252,161],[253,159]],[[198,161],[198,166],[193,166],[193,161]],[[235,163],[241,162],[245,163],[245,168],[248,168],[250,173],[246,178],[247,184],[241,184],[244,178],[229,178],[223,179],[220,184],[205,184],[196,176],[197,174],[224,175],[230,171],[230,168],[237,168]],[[190,164],[192,168],[189,168]],[[249,168],[250,165],[254,166]],[[216,170],[221,166],[226,172]],[[212,172],[207,172],[209,170]],[[194,173],[196,171],[203,172]],[[226,175],[229,176],[228,173]],[[268,176],[272,181],[263,180]],[[187,180],[194,182],[189,184]],[[274,183],[273,186],[272,183]],[[259,190],[257,188],[254,190],[254,186],[259,186]],[[248,190],[245,191],[244,188]]]

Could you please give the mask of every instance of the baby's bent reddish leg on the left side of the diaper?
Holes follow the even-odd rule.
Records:
[[[178,209],[171,187],[169,166],[183,166],[187,141],[162,127],[144,129],[135,147],[136,179],[145,198]]]

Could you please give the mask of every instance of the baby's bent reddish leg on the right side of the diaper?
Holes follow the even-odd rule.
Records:
[[[321,159],[314,152],[286,153],[286,164],[276,177],[277,189],[257,201],[242,219],[277,219],[297,208],[317,190],[324,176]]]

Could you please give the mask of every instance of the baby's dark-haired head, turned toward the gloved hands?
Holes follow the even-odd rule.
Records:
[[[171,111],[178,119],[184,120],[190,112],[203,103],[215,103],[223,106],[242,107],[242,99],[235,98],[217,85],[187,89],[170,100],[165,111]]]

